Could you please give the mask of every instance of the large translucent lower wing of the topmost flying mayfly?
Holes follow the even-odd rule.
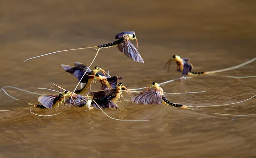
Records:
[[[131,41],[124,41],[118,44],[117,48],[119,49],[119,51],[125,53],[125,55],[133,61],[144,63],[141,55],[139,54],[133,43],[131,43]]]

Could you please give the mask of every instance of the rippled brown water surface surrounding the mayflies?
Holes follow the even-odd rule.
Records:
[[[62,52],[22,63],[43,53],[93,46],[113,41],[115,34],[134,30],[145,63],[135,63],[116,48],[99,52],[93,66],[122,76],[128,88],[145,87],[181,77],[165,62],[174,54],[190,57],[195,71],[213,71],[243,63],[256,56],[256,2],[253,0],[157,1],[0,1],[0,86],[54,94],[38,87],[54,82],[73,90],[77,80],[60,64],[89,64],[93,49]],[[256,63],[220,75],[255,75]],[[242,101],[255,94],[255,78],[193,77],[162,86],[167,95],[185,105],[218,105]],[[98,87],[94,88],[99,89]],[[65,108],[54,117],[38,117],[28,109],[37,95],[6,89],[0,93],[0,157],[222,157],[256,156],[255,117],[227,117],[212,113],[256,113],[256,99],[232,107],[178,109],[166,105],[118,103],[100,111]],[[125,95],[125,99],[129,99]],[[58,111],[63,111],[59,109]],[[56,111],[35,109],[41,115]]]

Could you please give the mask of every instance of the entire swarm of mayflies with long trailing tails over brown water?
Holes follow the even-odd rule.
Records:
[[[45,55],[63,52],[63,51],[94,48],[94,49],[97,49],[97,53],[93,59],[93,61],[94,61],[97,54],[99,53],[100,49],[109,48],[109,47],[113,47],[113,46],[117,45],[117,48],[119,49],[119,51],[124,53],[127,57],[129,57],[133,61],[144,63],[137,48],[133,45],[133,43],[131,43],[131,40],[133,40],[133,39],[135,39],[137,41],[135,32],[125,32],[125,31],[121,32],[115,36],[115,39],[117,39],[117,40],[110,42],[110,43],[106,43],[106,44],[101,44],[101,45],[97,45],[97,46],[93,46],[93,47],[83,47],[83,48],[55,51],[52,53],[39,55],[39,56],[32,57],[29,59],[34,59],[37,57],[42,57]],[[138,43],[137,43],[137,45],[138,45]],[[29,59],[26,59],[25,61],[28,61]],[[254,59],[251,59],[245,63],[236,65],[234,67],[230,67],[230,68],[226,68],[226,69],[222,69],[222,70],[216,70],[216,71],[203,71],[203,72],[193,72],[192,71],[193,65],[189,62],[189,58],[181,58],[178,55],[173,55],[173,59],[169,59],[169,61],[166,63],[165,67],[168,66],[168,72],[169,72],[169,67],[170,67],[172,60],[176,61],[177,71],[182,73],[183,77],[180,78],[180,79],[182,79],[182,78],[185,78],[184,75],[191,75],[191,76],[205,75],[205,74],[212,74],[212,73],[228,71],[231,69],[236,69],[238,67],[242,67],[248,63],[255,61],[256,57]],[[79,83],[78,83],[77,87],[75,88],[75,90],[73,92],[67,91],[66,89],[63,89],[63,88],[59,87],[58,85],[56,85],[56,86],[58,88],[60,88],[59,95],[40,95],[38,93],[26,91],[23,89],[12,87],[12,86],[3,87],[0,91],[4,91],[4,93],[6,93],[6,95],[8,95],[9,97],[12,97],[12,96],[10,96],[4,90],[4,88],[9,87],[9,88],[18,89],[20,91],[28,92],[28,93],[38,94],[38,95],[40,95],[40,97],[38,97],[38,101],[40,102],[40,104],[34,106],[34,107],[38,107],[38,108],[52,109],[53,107],[57,107],[57,110],[58,110],[60,105],[69,105],[69,106],[74,106],[74,107],[84,107],[85,106],[85,108],[88,111],[92,110],[92,109],[99,109],[105,115],[107,115],[107,114],[102,109],[112,109],[112,108],[118,109],[119,108],[116,101],[123,98],[122,91],[126,91],[129,94],[129,97],[130,97],[131,92],[135,92],[135,95],[133,95],[130,100],[137,104],[143,104],[143,105],[165,104],[165,105],[170,105],[173,107],[179,107],[179,108],[184,108],[184,109],[187,109],[190,107],[220,107],[220,106],[225,106],[225,105],[232,105],[232,104],[247,101],[256,96],[256,95],[254,95],[253,97],[250,97],[249,99],[246,99],[244,101],[230,103],[230,104],[223,104],[223,105],[191,106],[191,105],[182,105],[179,103],[172,103],[171,101],[167,100],[165,95],[167,95],[168,93],[164,93],[164,91],[160,87],[160,85],[174,81],[176,79],[166,81],[163,83],[159,83],[159,84],[154,81],[147,87],[129,90],[121,82],[119,83],[119,80],[121,79],[121,77],[118,77],[117,75],[111,77],[106,71],[104,71],[102,68],[100,68],[98,66],[95,66],[94,69],[90,69],[91,65],[93,64],[93,61],[91,62],[91,64],[88,67],[79,62],[76,62],[74,66],[64,65],[64,64],[61,65],[62,69],[64,69],[68,73],[71,73],[71,75],[76,77],[78,79],[79,83],[81,83],[81,89],[76,90],[79,85]],[[100,73],[100,71],[102,73]],[[227,77],[230,77],[230,76],[227,76]],[[250,77],[256,77],[256,76],[250,76]],[[239,77],[235,77],[235,78],[239,78]],[[243,78],[246,78],[246,77],[243,77]],[[93,92],[93,91],[91,91],[91,86],[92,86],[92,83],[94,83],[96,81],[98,81],[101,84],[101,90]],[[84,86],[83,86],[83,84],[84,84]],[[46,89],[46,88],[42,88],[42,89]],[[144,90],[141,92],[131,91],[131,90],[139,90],[139,89],[144,89]],[[48,90],[54,91],[52,89],[48,89]],[[191,93],[200,93],[200,92],[191,92]],[[14,97],[12,97],[12,98],[16,99]],[[16,100],[18,100],[18,99],[16,99]],[[9,111],[9,110],[1,110],[1,111]],[[32,109],[30,109],[30,112],[33,113]],[[33,113],[33,114],[35,114],[35,113]],[[214,114],[218,114],[218,113],[214,113]],[[35,114],[35,115],[37,115],[37,114]],[[55,115],[57,115],[57,114],[55,114]],[[219,115],[222,115],[222,114],[219,114]],[[223,114],[223,115],[225,115],[225,114]],[[254,115],[254,114],[252,114],[252,115]],[[38,116],[53,116],[53,115],[38,115]],[[232,115],[232,116],[235,116],[235,115]],[[239,116],[244,116],[244,115],[239,115]],[[249,116],[249,115],[247,115],[247,116]],[[110,116],[107,115],[107,117],[110,117]],[[110,118],[115,119],[112,117],[110,117]],[[120,119],[115,119],[115,120],[120,120]],[[129,121],[145,121],[145,120],[129,120]]]

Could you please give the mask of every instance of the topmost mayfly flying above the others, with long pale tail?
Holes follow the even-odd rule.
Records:
[[[93,46],[93,47],[83,47],[83,48],[55,51],[55,52],[47,53],[47,54],[44,54],[44,55],[39,55],[39,56],[36,56],[36,57],[31,57],[29,59],[26,59],[25,61],[28,61],[30,59],[34,59],[34,58],[37,58],[37,57],[42,57],[42,56],[45,56],[45,55],[53,54],[53,53],[58,53],[58,52],[62,52],[62,51],[79,50],[79,49],[95,48],[95,49],[98,50],[97,51],[97,53],[98,53],[100,49],[109,48],[109,47],[113,47],[114,45],[117,45],[118,50],[121,51],[122,53],[124,53],[127,57],[129,57],[133,61],[136,61],[136,62],[139,62],[139,63],[144,63],[144,61],[141,58],[141,55],[139,54],[137,48],[133,45],[133,43],[131,43],[131,40],[135,39],[136,43],[137,43],[137,46],[138,46],[138,41],[137,41],[137,38],[135,36],[135,32],[134,31],[124,31],[124,32],[121,32],[121,33],[119,33],[119,34],[117,34],[115,36],[115,39],[118,39],[118,40],[110,42],[110,43],[106,43],[106,44],[101,44],[101,45]],[[96,55],[95,55],[95,57],[96,57]]]

